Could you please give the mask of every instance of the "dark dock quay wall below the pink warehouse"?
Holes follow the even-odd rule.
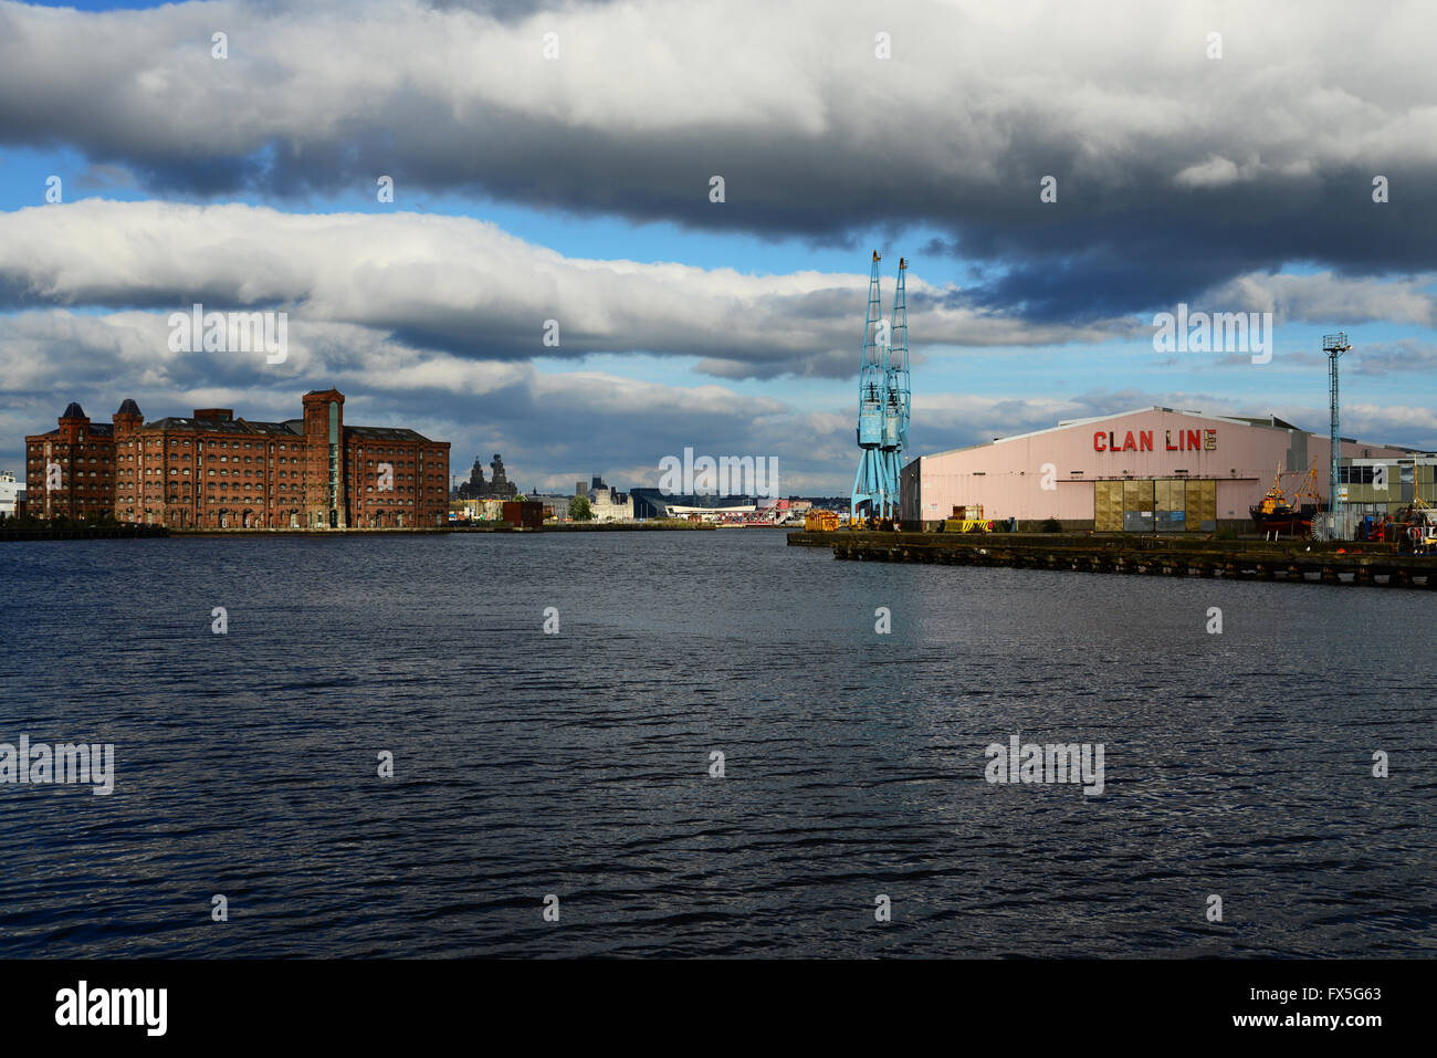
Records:
[[[858,562],[935,562],[1086,574],[1437,589],[1437,555],[1392,545],[1069,533],[793,532],[789,546]]]

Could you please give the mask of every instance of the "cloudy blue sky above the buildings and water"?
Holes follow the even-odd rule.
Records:
[[[335,385],[526,492],[693,448],[846,494],[874,250],[910,456],[1154,404],[1325,433],[1335,331],[1342,433],[1437,448],[1433,39],[1400,0],[0,0],[0,469],[70,401]],[[174,351],[195,303],[287,313],[285,359]],[[1158,351],[1178,305],[1272,313],[1272,358]]]

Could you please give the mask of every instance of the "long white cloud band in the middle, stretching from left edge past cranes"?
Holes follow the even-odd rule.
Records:
[[[700,358],[723,378],[846,378],[867,289],[861,275],[565,257],[467,217],[101,200],[0,213],[0,309],[280,309],[302,339],[348,323],[460,358],[652,352]],[[915,348],[1101,341],[1132,326],[1030,325],[915,276],[908,290]]]

